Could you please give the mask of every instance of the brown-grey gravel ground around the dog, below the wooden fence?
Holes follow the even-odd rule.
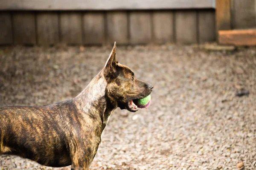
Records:
[[[0,48],[0,106],[71,99],[111,49]],[[154,85],[152,103],[136,113],[114,111],[90,170],[256,169],[256,48],[117,46],[117,60]],[[236,96],[242,88],[250,94]],[[0,169],[70,167],[0,156]]]

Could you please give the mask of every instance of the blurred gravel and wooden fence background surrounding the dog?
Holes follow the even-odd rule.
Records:
[[[91,170],[256,169],[255,0],[0,0],[0,106],[78,95],[116,59],[154,85]],[[0,156],[3,170],[68,170]]]

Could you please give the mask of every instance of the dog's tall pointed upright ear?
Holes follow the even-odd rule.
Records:
[[[108,60],[104,67],[104,76],[105,79],[108,80],[109,77],[111,77],[111,74],[113,74],[116,70],[116,42],[114,43],[114,47],[111,51],[111,54],[108,57]]]

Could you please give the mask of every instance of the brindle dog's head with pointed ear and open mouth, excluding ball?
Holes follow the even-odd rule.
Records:
[[[121,109],[138,111],[136,100],[143,99],[153,90],[151,84],[137,79],[129,67],[116,61],[116,42],[103,68],[103,74],[107,81],[106,95],[111,103]]]

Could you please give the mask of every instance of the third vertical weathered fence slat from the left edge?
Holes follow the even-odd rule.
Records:
[[[37,14],[37,37],[40,45],[59,42],[58,13],[39,12]]]

